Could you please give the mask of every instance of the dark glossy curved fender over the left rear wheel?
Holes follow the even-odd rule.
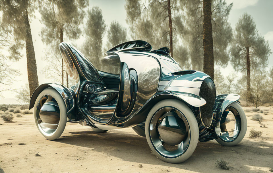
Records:
[[[35,101],[38,97],[38,95],[46,88],[52,87],[54,88],[59,94],[62,96],[63,101],[65,102],[65,106],[67,108],[67,117],[70,120],[76,120],[76,114],[75,114],[75,101],[74,101],[74,94],[69,88],[56,84],[56,83],[46,83],[38,86],[36,90],[33,92],[30,103],[29,103],[29,109],[34,107]]]

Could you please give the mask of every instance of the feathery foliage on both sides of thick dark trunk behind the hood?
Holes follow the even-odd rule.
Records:
[[[228,22],[232,7],[224,0],[212,0],[212,37],[214,63],[225,67],[228,65],[228,46],[232,39],[232,28]],[[181,1],[180,9],[184,28],[180,30],[182,42],[187,45],[188,56],[193,69],[203,68],[203,9],[202,1]]]

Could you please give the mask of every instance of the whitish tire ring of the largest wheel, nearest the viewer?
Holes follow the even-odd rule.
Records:
[[[180,156],[176,158],[166,158],[162,155],[160,155],[156,149],[154,148],[154,145],[152,144],[151,138],[150,138],[150,132],[149,132],[149,126],[150,121],[152,120],[152,117],[154,114],[163,107],[174,107],[177,110],[179,110],[186,118],[189,129],[190,129],[190,141],[189,145],[187,147],[187,150]],[[187,106],[184,102],[175,100],[175,99],[166,99],[158,102],[149,112],[146,122],[145,122],[145,134],[147,142],[152,150],[152,152],[161,160],[169,163],[181,163],[187,160],[195,151],[195,148],[198,143],[199,138],[199,129],[198,129],[198,123],[197,120],[193,114],[193,112],[190,110],[189,106]]]

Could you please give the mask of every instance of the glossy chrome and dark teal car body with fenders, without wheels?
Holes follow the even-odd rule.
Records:
[[[200,71],[183,71],[169,56],[168,48],[151,51],[152,46],[141,40],[111,48],[103,59],[119,62],[120,74],[97,70],[80,51],[67,43],[61,43],[59,48],[65,67],[76,84],[71,88],[55,83],[40,85],[32,94],[30,108],[35,107],[38,95],[51,87],[65,102],[68,122],[102,130],[133,127],[139,135],[145,136],[145,121],[152,107],[161,100],[176,99],[187,104],[195,115],[199,141],[226,136],[225,126],[221,124],[226,121],[228,106],[239,102],[239,95],[216,96],[212,78]],[[43,118],[47,114],[46,107],[42,102],[40,104]],[[182,118],[177,117],[167,117],[164,122],[177,120],[175,128],[180,128]],[[163,134],[167,126],[161,122],[159,133]],[[163,136],[167,140],[168,136]]]

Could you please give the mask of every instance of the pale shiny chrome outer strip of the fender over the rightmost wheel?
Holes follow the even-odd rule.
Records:
[[[221,94],[221,95],[218,95],[216,96],[216,98],[218,97],[224,97],[225,95],[224,94]],[[239,100],[240,96],[238,94],[228,94],[225,98],[225,100],[223,101],[222,103],[222,106],[220,108],[220,111],[218,112],[219,114],[219,120],[216,121],[215,123],[215,132],[217,135],[220,135],[221,134],[221,128],[220,128],[220,120],[221,120],[221,117],[222,117],[222,114],[224,113],[224,111],[226,110],[226,108],[233,102],[236,102],[237,100]]]

